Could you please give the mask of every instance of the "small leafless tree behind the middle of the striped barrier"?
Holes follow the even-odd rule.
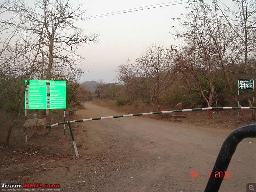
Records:
[[[177,76],[173,62],[174,50],[164,49],[163,44],[151,44],[135,63],[136,74],[141,86],[149,94],[150,99],[156,99],[158,111],[160,97]]]

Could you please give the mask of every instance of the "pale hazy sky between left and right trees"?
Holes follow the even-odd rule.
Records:
[[[86,57],[80,67],[88,71],[79,82],[102,79],[105,83],[114,83],[117,66],[128,57],[133,63],[151,43],[163,43],[165,47],[179,45],[181,40],[173,39],[169,32],[174,32],[172,26],[178,27],[172,18],[180,17],[181,13],[186,14],[187,2],[188,0],[85,1],[83,8],[87,9],[88,17],[138,7],[145,9],[150,8],[145,7],[150,5],[177,5],[87,19],[82,28],[88,33],[99,34],[100,38],[98,43],[91,42],[78,49],[78,53]]]

